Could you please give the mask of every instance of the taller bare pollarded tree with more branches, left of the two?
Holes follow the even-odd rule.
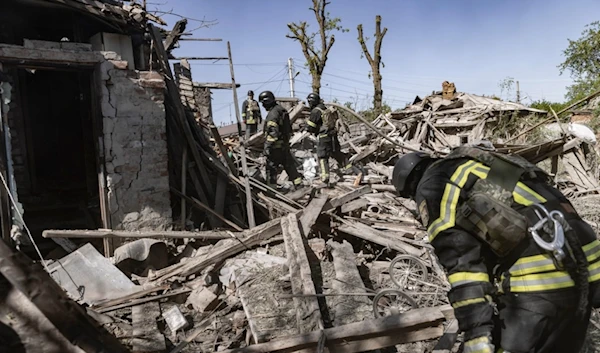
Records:
[[[325,0],[312,0],[312,2],[313,7],[309,9],[315,14],[319,31],[308,33],[308,23],[306,21],[288,23],[291,33],[287,34],[286,37],[300,42],[302,53],[306,58],[306,66],[308,66],[312,76],[312,90],[319,93],[321,90],[321,76],[327,63],[327,56],[333,43],[335,43],[335,36],[331,32],[334,30],[348,32],[348,30],[342,28],[340,18],[332,18],[329,12],[325,11],[325,8],[331,2]],[[320,47],[315,42],[317,36],[320,39]]]

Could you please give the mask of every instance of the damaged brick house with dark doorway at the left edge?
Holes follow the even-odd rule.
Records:
[[[92,3],[0,3],[3,234],[22,231],[17,209],[34,234],[171,225],[165,83],[145,34],[161,20]]]

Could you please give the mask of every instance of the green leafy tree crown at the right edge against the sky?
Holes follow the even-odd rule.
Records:
[[[585,26],[581,38],[570,40],[558,65],[561,75],[569,71],[575,83],[567,88],[568,100],[581,99],[600,89],[600,22]]]

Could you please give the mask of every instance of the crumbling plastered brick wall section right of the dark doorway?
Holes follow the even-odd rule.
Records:
[[[106,53],[107,59],[118,59]],[[113,229],[164,230],[171,224],[164,107],[157,72],[100,65],[101,110],[109,212]]]

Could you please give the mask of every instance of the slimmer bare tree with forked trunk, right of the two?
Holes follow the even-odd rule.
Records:
[[[367,58],[369,65],[371,65],[371,73],[369,76],[373,79],[373,108],[376,115],[381,114],[383,107],[383,89],[381,88],[381,66],[385,67],[383,62],[381,62],[381,42],[383,41],[383,37],[387,33],[387,28],[381,30],[381,16],[377,15],[375,17],[375,45],[373,56],[369,53],[369,49],[367,48],[367,43],[363,36],[363,28],[362,24],[356,27],[358,30],[358,42],[363,51],[363,55]]]

